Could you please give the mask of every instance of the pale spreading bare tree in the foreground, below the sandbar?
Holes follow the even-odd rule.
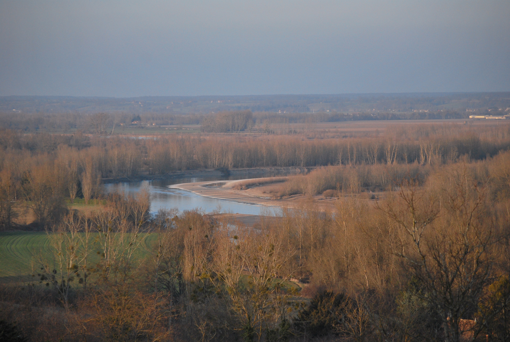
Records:
[[[218,238],[214,268],[226,286],[232,308],[240,315],[245,340],[260,340],[268,322],[271,308],[277,302],[278,288],[285,277],[277,279],[283,265],[293,251],[284,248],[282,234],[251,231],[242,238],[223,230]],[[241,284],[241,274],[248,277]],[[280,285],[275,286],[273,281]],[[217,284],[219,286],[219,284]]]

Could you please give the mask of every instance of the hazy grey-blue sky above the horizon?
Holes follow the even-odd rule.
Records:
[[[0,0],[0,96],[510,91],[510,1]]]

